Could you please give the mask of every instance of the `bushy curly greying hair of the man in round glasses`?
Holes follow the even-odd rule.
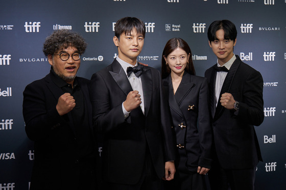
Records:
[[[66,49],[69,46],[74,46],[78,49],[79,53],[84,53],[87,44],[80,34],[70,30],[57,30],[53,34],[46,37],[43,52],[47,56],[54,55],[61,48]]]

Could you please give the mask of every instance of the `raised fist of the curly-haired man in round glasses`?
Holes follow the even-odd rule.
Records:
[[[73,110],[76,106],[76,100],[69,93],[64,93],[59,97],[58,103],[56,105],[57,111],[60,116],[63,116]]]

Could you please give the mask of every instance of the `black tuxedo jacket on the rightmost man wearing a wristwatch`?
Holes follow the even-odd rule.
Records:
[[[263,78],[258,71],[236,56],[220,93],[220,97],[223,93],[230,93],[234,100],[240,102],[239,111],[234,112],[224,108],[220,102],[217,107],[214,103],[217,72],[213,67],[206,70],[205,77],[209,83],[212,128],[218,161],[224,169],[254,168],[258,160],[262,161],[253,125],[258,126],[264,120]]]

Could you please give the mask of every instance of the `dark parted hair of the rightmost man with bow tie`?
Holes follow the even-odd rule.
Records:
[[[224,39],[232,41],[236,39],[237,31],[234,23],[229,20],[216,20],[213,21],[208,27],[208,41],[212,42],[214,40],[217,40],[216,32],[221,29],[224,30]]]

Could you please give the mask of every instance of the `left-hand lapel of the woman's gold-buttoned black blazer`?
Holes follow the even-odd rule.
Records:
[[[169,75],[165,80],[163,84],[164,88],[166,89],[166,92],[168,92],[169,95],[169,106],[171,110],[174,110],[181,118],[183,118],[183,113],[175,99],[174,95],[174,89],[172,84],[171,75]]]

